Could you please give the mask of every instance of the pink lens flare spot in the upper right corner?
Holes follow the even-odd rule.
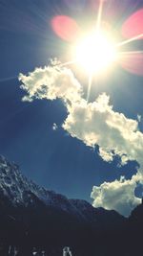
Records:
[[[122,35],[131,38],[143,34],[143,9],[134,12],[123,24]],[[143,36],[140,37],[143,39]]]

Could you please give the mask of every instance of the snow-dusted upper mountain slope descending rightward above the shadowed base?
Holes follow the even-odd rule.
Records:
[[[94,209],[92,205],[80,199],[68,199],[65,196],[56,194],[43,187],[38,186],[27,177],[22,175],[16,164],[10,163],[4,156],[0,156],[0,194],[10,199],[13,205],[27,206],[36,196],[46,206],[51,206],[67,212],[76,217],[96,222],[99,219],[99,213],[109,215],[109,211],[104,209]],[[110,211],[117,217],[119,215],[114,211]],[[122,217],[121,217],[122,219]]]

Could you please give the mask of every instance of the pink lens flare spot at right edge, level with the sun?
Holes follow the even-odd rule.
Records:
[[[120,59],[121,66],[138,76],[143,76],[143,53],[131,53]]]

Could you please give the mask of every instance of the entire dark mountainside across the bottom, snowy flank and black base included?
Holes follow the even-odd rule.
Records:
[[[32,255],[35,246],[58,256],[66,245],[76,256],[114,255],[116,247],[115,255],[135,255],[130,240],[137,243],[134,233],[143,225],[142,213],[140,205],[125,219],[115,211],[93,208],[85,200],[68,199],[38,186],[0,156],[2,256],[9,255],[10,245],[17,246],[21,256]]]

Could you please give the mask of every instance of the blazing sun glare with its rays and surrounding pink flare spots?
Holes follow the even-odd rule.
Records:
[[[65,1],[71,3],[69,0]],[[78,1],[75,0],[75,2],[77,3]],[[92,76],[100,75],[102,71],[107,71],[115,62],[119,63],[125,70],[142,76],[142,48],[138,49],[139,51],[128,52],[127,47],[128,44],[143,39],[143,9],[134,12],[124,22],[122,25],[124,40],[117,42],[112,39],[113,37],[109,36],[111,26],[103,20],[104,4],[106,1],[98,0],[94,2],[91,0],[91,2],[95,4],[98,12],[96,20],[93,23],[94,30],[90,34],[82,31],[77,22],[69,16],[57,15],[51,19],[53,32],[63,40],[68,41],[70,43],[70,49],[72,49],[67,55],[72,58],[60,65],[76,64],[81,67],[89,76],[89,88],[92,86]],[[124,46],[126,46],[126,51],[122,50]],[[90,89],[88,94],[90,95]]]

